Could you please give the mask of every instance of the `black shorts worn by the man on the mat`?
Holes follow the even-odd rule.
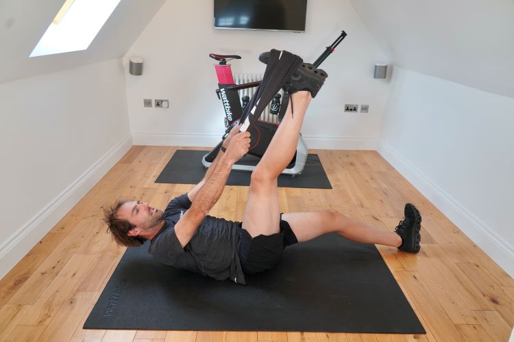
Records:
[[[266,271],[277,265],[287,246],[298,242],[289,223],[280,215],[280,233],[258,235],[252,239],[245,229],[239,233],[239,260],[245,274]]]

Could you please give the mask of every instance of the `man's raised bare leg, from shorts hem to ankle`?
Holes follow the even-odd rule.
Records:
[[[280,231],[277,178],[295,155],[299,132],[310,99],[310,92],[306,91],[291,95],[284,120],[252,172],[248,201],[243,215],[243,228],[252,237],[261,234],[272,235]],[[294,116],[291,112],[291,103],[294,105]]]

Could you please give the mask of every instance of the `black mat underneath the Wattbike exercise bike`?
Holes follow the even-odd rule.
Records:
[[[201,158],[209,151],[206,150],[177,150],[169,160],[167,166],[156,179],[156,183],[197,184],[204,178],[205,169]],[[238,164],[256,165],[259,159],[252,155],[245,155]],[[248,171],[232,170],[228,176],[227,185],[250,185]],[[308,155],[302,174],[291,176],[281,174],[278,177],[279,187],[310,187],[315,189],[332,189],[330,181],[323,170],[318,155]]]

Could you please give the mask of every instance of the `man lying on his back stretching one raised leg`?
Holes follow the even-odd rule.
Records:
[[[284,90],[292,94],[284,120],[252,173],[243,222],[208,215],[223,192],[232,165],[249,150],[249,133],[239,132],[241,126],[237,126],[204,179],[187,194],[171,200],[164,211],[139,201],[119,201],[106,209],[105,221],[114,239],[123,246],[140,246],[150,240],[149,253],[157,261],[239,284],[245,284],[245,275],[277,265],[286,246],[326,233],[419,252],[421,215],[411,204],[405,205],[404,220],[389,232],[334,209],[280,213],[277,178],[295,154],[308,104],[326,79],[323,70],[310,64],[295,70],[289,81],[284,80]]]

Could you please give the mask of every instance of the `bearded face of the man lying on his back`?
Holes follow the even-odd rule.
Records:
[[[126,202],[118,209],[117,218],[127,220],[141,231],[156,228],[162,222],[163,212],[140,201]]]

